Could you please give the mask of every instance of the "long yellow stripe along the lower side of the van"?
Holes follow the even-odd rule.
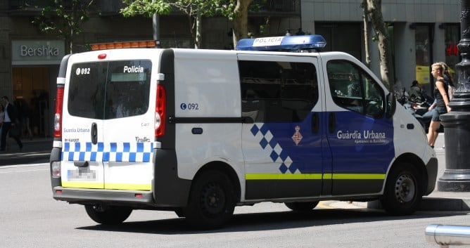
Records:
[[[383,180],[385,174],[246,174],[245,180],[285,180],[285,179],[324,179],[324,180]]]

